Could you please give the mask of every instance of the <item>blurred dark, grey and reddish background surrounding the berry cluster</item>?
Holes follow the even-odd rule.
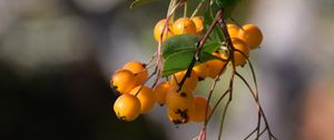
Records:
[[[168,7],[160,0],[130,10],[130,2],[0,0],[1,140],[190,140],[199,133],[202,124],[176,127],[159,106],[134,122],[115,117],[109,78],[128,61],[150,59],[153,27]],[[250,60],[281,140],[334,139],[333,16],[333,0],[244,0],[233,13],[263,30]],[[240,71],[250,79],[248,70]],[[196,92],[206,94],[209,83]],[[225,140],[243,139],[256,124],[254,101],[236,83]],[[220,118],[210,121],[209,140],[217,139]]]

